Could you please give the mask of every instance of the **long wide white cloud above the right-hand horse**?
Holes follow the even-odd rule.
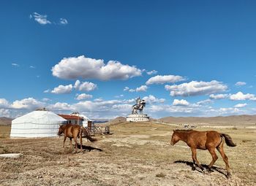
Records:
[[[213,80],[211,82],[185,82],[181,85],[165,85],[166,90],[170,90],[170,96],[198,96],[218,93],[227,90],[227,85]]]

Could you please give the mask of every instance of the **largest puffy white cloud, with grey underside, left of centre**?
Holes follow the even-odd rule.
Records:
[[[127,80],[131,77],[141,75],[141,70],[135,66],[123,65],[118,61],[108,61],[86,58],[84,55],[78,58],[63,58],[52,68],[53,76],[61,79],[83,79],[97,80]]]

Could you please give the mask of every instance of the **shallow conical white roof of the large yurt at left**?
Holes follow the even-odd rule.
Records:
[[[50,111],[33,111],[17,117],[12,123],[56,123],[67,121],[63,117]]]

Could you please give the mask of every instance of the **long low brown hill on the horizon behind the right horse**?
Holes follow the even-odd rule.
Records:
[[[159,122],[176,124],[256,125],[256,115],[231,115],[218,117],[162,117]]]

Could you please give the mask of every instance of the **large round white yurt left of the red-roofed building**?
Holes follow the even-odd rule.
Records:
[[[59,125],[67,123],[53,112],[37,110],[12,120],[10,137],[37,138],[58,136]]]

